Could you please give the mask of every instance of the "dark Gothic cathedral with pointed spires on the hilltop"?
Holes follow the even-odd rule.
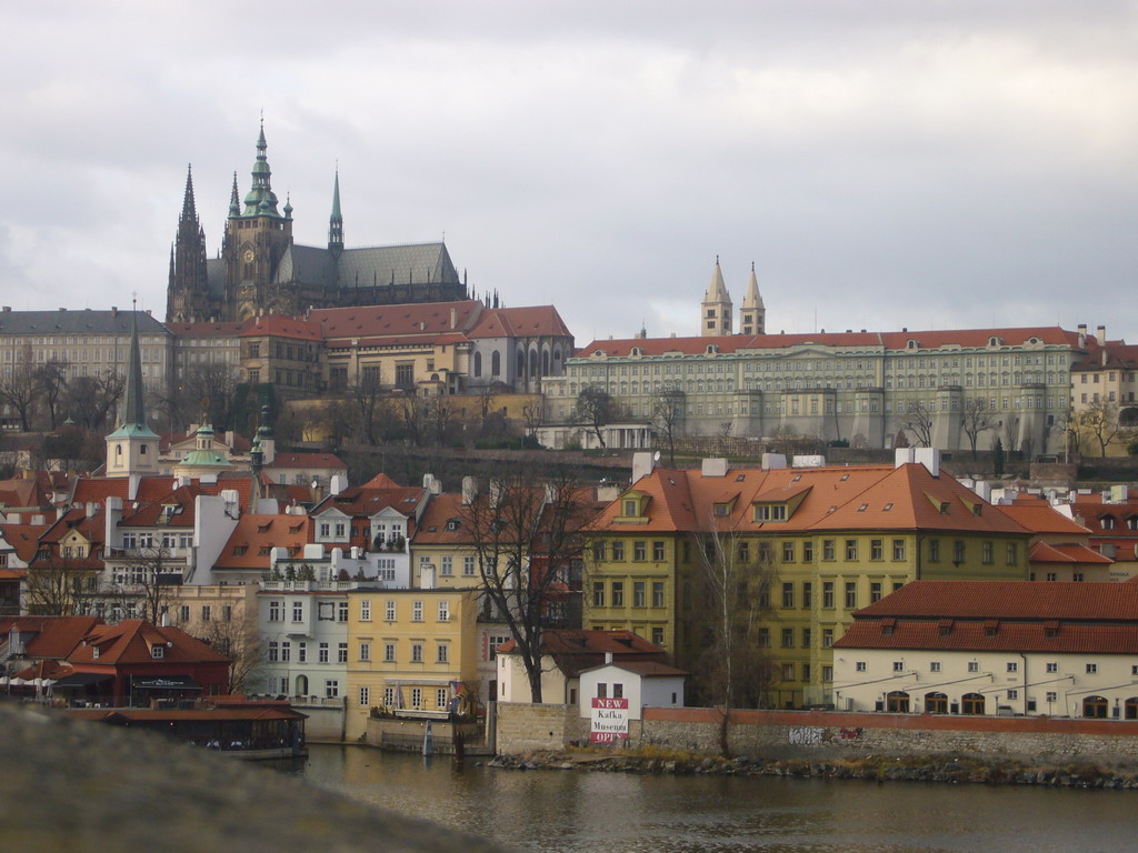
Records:
[[[193,180],[187,174],[182,214],[170,256],[166,322],[241,321],[258,313],[299,314],[311,307],[450,301],[465,283],[442,242],[346,249],[340,181],[332,184],[328,246],[292,241],[292,205],[279,208],[262,125],[253,183],[242,206],[237,173],[217,257],[206,254]]]

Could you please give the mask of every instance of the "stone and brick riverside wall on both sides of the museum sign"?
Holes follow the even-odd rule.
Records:
[[[560,750],[588,739],[588,720],[571,705],[498,706],[503,755]],[[629,722],[630,747],[767,759],[951,753],[1034,759],[1058,764],[1094,760],[1138,768],[1138,721],[1047,717],[939,717],[823,711],[644,709]]]

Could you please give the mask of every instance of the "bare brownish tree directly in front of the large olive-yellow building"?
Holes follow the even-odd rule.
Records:
[[[759,627],[770,612],[776,566],[766,544],[721,530],[715,522],[708,519],[694,535],[708,628],[699,687],[711,704],[760,707],[774,678],[770,655],[759,644]]]

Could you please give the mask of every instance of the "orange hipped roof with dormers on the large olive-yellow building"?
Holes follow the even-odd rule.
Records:
[[[1007,515],[951,477],[933,477],[917,463],[900,466],[733,469],[725,477],[657,469],[630,489],[648,497],[635,525],[617,521],[620,500],[594,529],[644,532],[695,531],[716,527],[739,532],[819,530],[951,530],[1023,533]],[[628,492],[626,492],[627,495]],[[791,505],[798,503],[797,508]],[[754,503],[787,503],[785,521],[757,521]],[[726,514],[716,512],[727,505]],[[979,510],[979,513],[978,513]]]

